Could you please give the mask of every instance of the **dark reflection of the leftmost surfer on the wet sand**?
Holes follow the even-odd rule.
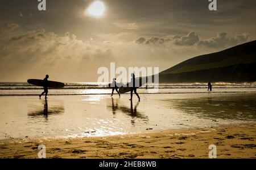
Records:
[[[64,113],[64,106],[63,105],[48,107],[47,99],[43,100],[42,104],[43,104],[43,107],[32,106],[31,108],[33,108],[33,109],[28,111],[28,114],[27,114],[28,117],[30,117],[30,118],[44,117],[44,118],[47,119],[49,115]],[[34,109],[34,107],[37,108],[37,109]]]

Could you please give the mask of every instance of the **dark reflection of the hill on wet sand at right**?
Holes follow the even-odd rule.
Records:
[[[233,121],[256,120],[255,96],[214,96],[200,98],[166,99],[172,109],[196,115],[199,118]]]

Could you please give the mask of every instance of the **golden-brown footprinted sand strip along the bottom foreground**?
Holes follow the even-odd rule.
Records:
[[[46,146],[47,158],[256,158],[256,124],[228,125],[84,138],[0,140],[0,158],[37,158]]]

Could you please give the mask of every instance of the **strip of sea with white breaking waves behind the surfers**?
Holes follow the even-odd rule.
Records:
[[[158,89],[152,90],[150,89]],[[30,85],[27,82],[0,82],[0,96],[38,96],[42,87]],[[207,83],[193,84],[148,84],[138,89],[141,94],[160,93],[208,93]],[[224,83],[213,84],[212,93],[236,93],[236,92],[256,92],[256,82],[253,83]],[[64,88],[49,89],[48,95],[93,95],[93,94],[111,94],[112,89],[108,88],[108,83],[97,82],[67,82]]]

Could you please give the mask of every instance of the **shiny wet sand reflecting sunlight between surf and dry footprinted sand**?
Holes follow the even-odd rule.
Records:
[[[256,93],[0,97],[0,139],[109,136],[256,122]],[[15,107],[14,107],[15,106]]]

